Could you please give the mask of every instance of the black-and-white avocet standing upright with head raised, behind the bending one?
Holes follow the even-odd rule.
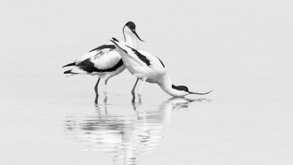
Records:
[[[136,48],[135,36],[142,41],[137,33],[135,32],[135,24],[133,22],[128,22],[123,27],[123,35],[125,41],[120,41],[131,47]],[[98,75],[98,81],[94,87],[96,96],[98,96],[98,84],[101,78],[104,78],[104,94],[107,97],[107,81],[109,78],[121,73],[125,66],[121,56],[117,52],[113,43],[101,45],[89,53],[83,55],[74,62],[67,64],[65,66],[75,66],[73,69],[65,71],[64,74],[75,75],[75,74],[88,74],[88,75]],[[63,67],[65,67],[63,66]],[[62,67],[62,68],[63,68]],[[132,96],[134,95],[134,89],[137,84],[136,80],[133,89],[131,90]]]

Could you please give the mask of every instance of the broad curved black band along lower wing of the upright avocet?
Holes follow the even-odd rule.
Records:
[[[113,71],[116,71],[122,65],[123,65],[123,61],[122,59],[120,59],[120,61],[112,68],[98,69],[94,66],[94,63],[90,61],[90,58],[88,58],[78,63],[76,67],[79,67],[79,69],[82,69],[88,73],[92,73],[92,72],[113,72]]]

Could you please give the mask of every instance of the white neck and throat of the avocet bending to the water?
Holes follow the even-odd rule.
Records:
[[[185,95],[188,95],[187,92],[172,88],[173,83],[171,82],[168,72],[164,75],[161,82],[162,83],[158,83],[158,85],[162,88],[162,90],[164,90],[166,93],[168,93],[171,96],[183,97]]]

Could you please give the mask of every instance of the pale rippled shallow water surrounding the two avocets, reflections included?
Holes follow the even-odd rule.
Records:
[[[2,2],[0,164],[288,164],[293,21],[288,2]],[[128,21],[175,85],[127,70],[103,84],[61,68]],[[137,88],[140,87],[139,81]],[[137,90],[136,90],[137,92]]]

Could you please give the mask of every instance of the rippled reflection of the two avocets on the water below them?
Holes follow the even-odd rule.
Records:
[[[94,148],[87,150],[103,150],[113,154],[114,163],[121,157],[124,163],[136,164],[138,155],[151,152],[162,139],[171,111],[188,110],[190,102],[203,100],[210,101],[173,97],[154,109],[143,109],[141,103],[131,100],[133,115],[123,115],[108,112],[107,100],[99,104],[96,98],[95,114],[66,117],[66,134],[77,135],[77,141],[88,142],[85,146]]]

